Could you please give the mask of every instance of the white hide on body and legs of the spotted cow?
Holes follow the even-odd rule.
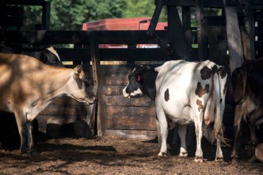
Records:
[[[206,62],[185,62],[183,60],[166,62],[156,68],[156,114],[161,127],[161,151],[158,154],[163,156],[167,152],[167,118],[172,122],[181,124],[179,136],[181,138],[180,156],[187,156],[185,136],[186,128],[183,125],[194,123],[197,136],[196,159],[201,161],[203,152],[201,149],[201,137],[203,122],[208,125],[215,121],[215,128],[222,137],[222,123],[225,100],[225,84],[227,76],[219,77],[218,73],[213,74],[209,79],[202,80],[201,69],[207,66],[212,70],[215,63]],[[217,66],[219,69],[221,66]],[[202,89],[209,86],[208,93],[199,97],[195,93],[197,84],[201,83]],[[165,91],[169,93],[169,100],[165,99]],[[201,102],[198,105],[197,102]],[[166,116],[166,117],[165,117]],[[216,159],[223,158],[220,146],[220,136],[217,137]]]

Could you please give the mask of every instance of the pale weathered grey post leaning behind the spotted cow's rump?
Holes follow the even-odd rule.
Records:
[[[226,5],[224,0],[224,4]],[[226,12],[226,34],[228,37],[228,48],[230,53],[230,71],[242,65],[244,62],[241,35],[235,6],[225,6]]]

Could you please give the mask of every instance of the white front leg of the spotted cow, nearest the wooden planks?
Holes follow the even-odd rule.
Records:
[[[167,120],[165,118],[165,113],[163,109],[158,109],[156,107],[156,113],[158,117],[158,122],[160,125],[161,131],[161,151],[159,152],[158,156],[165,156],[167,154],[167,136],[168,136],[168,125]]]

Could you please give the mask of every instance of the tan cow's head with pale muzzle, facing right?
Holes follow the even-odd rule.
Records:
[[[79,102],[93,104],[97,100],[80,65],[73,68],[73,78],[69,82],[68,91],[67,94]]]

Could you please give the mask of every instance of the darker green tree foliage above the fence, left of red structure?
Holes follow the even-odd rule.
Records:
[[[122,17],[125,0],[53,0],[51,1],[51,30],[81,30],[84,22]],[[42,8],[25,7],[24,28],[41,24]]]

